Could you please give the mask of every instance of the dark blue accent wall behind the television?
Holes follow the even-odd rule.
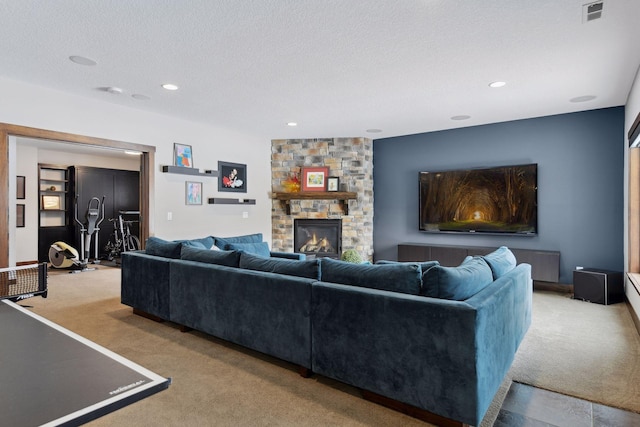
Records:
[[[404,242],[560,251],[560,283],[576,266],[624,271],[624,107],[374,141],[374,257]],[[538,164],[538,235],[418,230],[418,173]]]

